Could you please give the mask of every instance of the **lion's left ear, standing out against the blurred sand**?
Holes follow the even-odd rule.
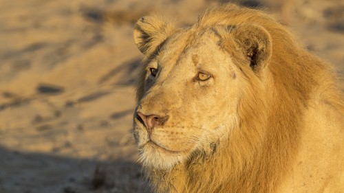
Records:
[[[143,54],[151,55],[173,32],[174,25],[162,16],[143,16],[135,25],[133,38]]]

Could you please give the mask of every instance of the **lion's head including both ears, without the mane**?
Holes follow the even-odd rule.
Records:
[[[251,83],[264,79],[270,34],[259,25],[175,30],[160,16],[145,16],[134,38],[146,58],[134,119],[144,164],[169,169],[213,153],[241,124],[241,107],[252,104],[242,96],[255,98],[259,84]],[[252,105],[264,109],[264,102]]]

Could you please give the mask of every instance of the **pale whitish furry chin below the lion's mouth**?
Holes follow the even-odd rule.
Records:
[[[158,168],[162,170],[169,170],[173,166],[181,163],[187,152],[168,150],[159,146],[153,141],[148,141],[146,144],[140,147],[140,160],[143,166],[149,168]]]

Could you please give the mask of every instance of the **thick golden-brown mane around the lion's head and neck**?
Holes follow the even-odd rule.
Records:
[[[171,170],[145,167],[156,191],[276,192],[299,161],[296,155],[303,143],[303,128],[308,124],[304,117],[312,102],[316,100],[328,104],[331,111],[343,117],[343,99],[334,84],[330,66],[304,49],[287,27],[266,12],[232,4],[222,5],[202,13],[192,27],[202,30],[205,27],[230,26],[228,30],[231,30],[247,23],[264,27],[270,34],[271,47],[264,48],[270,49],[271,57],[266,62],[269,73],[257,75],[249,66],[241,67],[246,82],[242,89],[244,97],[237,110],[237,129],[230,131],[226,144],[215,146],[213,154],[195,151],[187,161]],[[162,26],[161,23],[156,25],[155,28]],[[155,48],[175,32],[170,25],[164,26],[165,35],[155,37],[162,40],[150,41],[149,45],[141,43],[146,60],[156,54],[158,51]],[[136,29],[140,27],[138,24]],[[245,60],[234,46],[238,45],[237,39],[227,37],[222,31],[218,34],[227,40],[222,47],[233,60],[237,63]],[[254,39],[244,42],[241,47],[252,43],[261,46]],[[140,76],[138,101],[144,95],[143,70]],[[338,124],[343,126],[343,122]]]

